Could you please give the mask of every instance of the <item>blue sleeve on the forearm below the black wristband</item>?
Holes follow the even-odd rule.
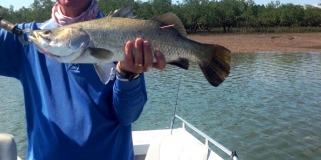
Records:
[[[123,125],[130,125],[138,119],[146,101],[147,93],[143,74],[132,81],[116,79],[113,106]]]

